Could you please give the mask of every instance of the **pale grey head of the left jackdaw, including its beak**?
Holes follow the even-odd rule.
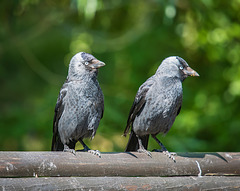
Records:
[[[93,55],[79,52],[70,61],[68,77],[78,78],[82,75],[97,75],[98,68],[102,66],[105,66],[105,63],[96,59]]]

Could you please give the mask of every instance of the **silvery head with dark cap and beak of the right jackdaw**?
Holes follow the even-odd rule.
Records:
[[[178,77],[181,81],[184,81],[188,76],[199,76],[199,74],[190,68],[188,63],[179,56],[170,56],[164,59],[157,73],[169,77]]]

